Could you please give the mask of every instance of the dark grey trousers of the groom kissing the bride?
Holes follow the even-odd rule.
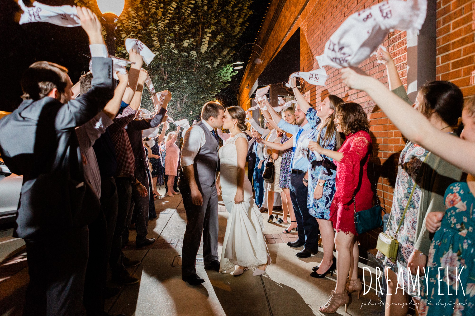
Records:
[[[180,178],[181,180],[181,178]],[[202,205],[191,201],[190,186],[186,181],[180,181],[179,188],[183,196],[186,210],[186,232],[183,237],[181,272],[183,277],[196,274],[196,255],[198,254],[201,234],[203,234],[203,258],[207,265],[218,260],[218,193],[216,186],[198,183],[203,197]]]

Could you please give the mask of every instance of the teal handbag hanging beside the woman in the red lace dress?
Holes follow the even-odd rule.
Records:
[[[376,173],[374,172],[374,163],[373,163],[373,174],[374,174],[374,186],[375,186],[374,194],[376,194],[376,205],[374,205],[368,210],[356,212],[356,199],[355,199],[355,195],[353,195],[353,208],[355,212],[354,213],[355,228],[356,228],[356,232],[359,235],[361,235],[364,232],[369,232],[383,225],[383,218],[381,216],[381,212],[385,212],[385,211],[381,207],[380,198],[378,197],[378,182],[376,182]]]

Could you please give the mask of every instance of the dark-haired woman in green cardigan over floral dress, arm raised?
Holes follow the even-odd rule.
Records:
[[[412,104],[399,79],[396,65],[390,54],[379,49],[377,57],[386,64],[392,92],[404,101]],[[434,81],[423,85],[418,92],[414,104],[414,108],[423,113],[433,126],[449,133],[452,132],[451,126],[456,125],[461,115],[462,106],[463,95],[460,89],[455,84],[445,81]],[[440,177],[440,175],[446,175],[447,177]],[[400,305],[391,303],[409,303],[411,297],[418,303],[422,299],[418,295],[417,289],[415,292],[409,293],[409,295],[403,294],[400,289],[396,293],[398,275],[402,275],[402,278],[399,279],[399,288],[407,289],[409,283],[408,261],[411,263],[409,267],[412,265],[424,267],[426,265],[430,240],[427,246],[426,243],[423,243],[425,241],[424,238],[421,238],[419,241],[418,234],[421,231],[428,206],[430,205],[430,207],[436,210],[443,209],[445,189],[450,183],[458,181],[460,175],[461,171],[459,169],[445,161],[441,161],[440,158],[431,155],[428,150],[411,141],[408,141],[405,148],[401,151],[391,216],[388,230],[386,231],[387,234],[397,238],[399,242],[398,255],[395,262],[384,257],[380,252],[377,255],[378,258],[383,259],[384,265],[389,268],[385,269],[389,285],[388,294],[391,294],[386,297],[386,303],[389,306],[386,308],[387,316],[402,316],[406,315],[408,311],[407,305],[403,305],[405,308],[401,308]],[[435,184],[436,186],[434,186]],[[409,200],[411,192],[413,194]],[[404,213],[405,209],[407,209],[406,213]],[[395,236],[399,223],[399,233]],[[424,247],[422,252],[418,251],[418,248],[415,246],[418,241]],[[417,254],[417,256],[414,257],[413,253]],[[412,261],[410,261],[411,256]],[[414,281],[417,281],[415,277],[410,280],[410,284],[413,284]]]

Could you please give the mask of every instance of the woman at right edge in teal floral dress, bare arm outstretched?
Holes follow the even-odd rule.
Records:
[[[361,71],[357,72],[354,69],[350,68],[344,68],[342,69],[342,79],[345,84],[348,85],[348,87],[352,89],[358,89],[362,90],[370,95],[370,97],[374,100],[375,103],[378,104],[378,106],[385,112],[387,117],[394,123],[394,125],[401,131],[401,133],[410,141],[413,141],[420,146],[422,146],[425,149],[428,149],[432,154],[439,156],[440,158],[446,160],[448,163],[453,164],[455,167],[461,168],[463,170],[466,170],[466,172],[469,173],[467,176],[467,186],[470,190],[470,192],[475,192],[475,123],[474,123],[474,108],[470,106],[469,110],[465,110],[462,113],[462,121],[465,124],[464,126],[464,131],[462,132],[462,138],[463,139],[458,139],[456,137],[453,137],[452,135],[448,135],[445,130],[442,128],[437,128],[434,126],[433,122],[431,120],[427,119],[425,117],[424,113],[418,112],[418,110],[412,108],[409,104],[406,102],[400,100],[398,96],[396,96],[394,93],[390,92],[388,88],[381,83],[378,79],[372,78],[371,76],[368,76],[366,74],[361,73]],[[442,99],[445,99],[447,95],[444,95]],[[434,95],[430,95],[430,98],[433,98]],[[467,117],[468,116],[468,117]],[[465,139],[465,140],[464,140]],[[461,190],[462,187],[460,186]],[[449,186],[449,191],[446,192],[447,197],[454,191],[456,190],[456,185]],[[466,192],[466,188],[464,189],[464,192]],[[459,245],[460,240],[458,240],[458,236],[455,236],[455,233],[452,232],[453,235],[450,234],[450,232],[446,231],[446,229],[453,229],[457,231],[457,226],[451,227],[452,222],[456,222],[454,224],[457,224],[457,216],[454,217],[454,214],[451,213],[454,209],[452,208],[452,205],[454,202],[456,204],[458,203],[464,203],[466,202],[466,207],[467,210],[470,209],[471,207],[471,199],[469,199],[470,196],[460,196],[460,202],[457,202],[456,196],[451,196],[453,197],[452,202],[449,199],[449,204],[448,206],[448,213],[446,213],[444,216],[446,217],[443,223],[440,223],[441,218],[438,219],[438,227],[439,228],[442,225],[444,225],[443,228],[440,228],[440,232],[438,232],[440,235],[434,236],[434,240],[438,241],[437,243],[433,242],[432,249],[429,251],[429,263],[432,265],[446,265],[450,268],[455,268],[458,266],[464,266],[466,268],[471,268],[473,269],[473,258],[471,259],[472,262],[468,263],[465,261],[464,258],[464,251],[461,251],[461,248],[464,248],[463,241],[462,245]],[[447,202],[447,201],[446,201]],[[462,205],[458,205],[462,206]],[[463,207],[458,207],[459,209],[463,210]],[[473,210],[471,210],[473,211]],[[470,211],[469,211],[470,212]],[[456,212],[457,213],[457,212]],[[467,212],[468,213],[468,212]],[[434,215],[433,215],[434,214]],[[428,227],[428,230],[430,232],[431,229],[434,227],[432,226],[430,222],[431,216],[437,215],[436,212],[431,212],[428,213],[425,219],[426,226]],[[462,214],[461,214],[462,215]],[[470,214],[472,215],[472,214]],[[462,217],[462,222],[464,223],[464,219]],[[460,223],[460,224],[461,224]],[[473,231],[473,227],[471,223],[468,223],[468,217],[467,217],[467,223],[464,224],[467,225],[467,231],[465,232],[465,229],[462,231],[458,231],[458,235],[462,237],[466,237],[467,239],[467,254],[468,253],[473,253],[474,248],[473,248],[473,236],[472,234],[468,233],[470,230]],[[431,228],[432,227],[432,228]],[[440,238],[442,237],[443,234],[447,233],[446,235],[446,243],[441,243]],[[465,235],[465,236],[464,236]],[[456,238],[454,238],[456,237]],[[470,244],[468,241],[471,241]],[[440,244],[439,244],[440,243]],[[439,248],[440,247],[440,248]],[[450,253],[450,247],[452,247],[452,253]],[[445,250],[443,250],[443,248]],[[454,254],[453,250],[457,250],[456,255]],[[445,253],[445,258],[444,255],[440,256],[441,252],[437,252],[438,250],[447,251]],[[431,253],[431,252],[437,252],[437,253]],[[442,259],[441,259],[442,258]],[[466,257],[468,258],[468,257]],[[439,261],[439,262],[437,262]],[[432,272],[436,272],[438,274],[438,268]],[[448,315],[473,315],[473,304],[474,304],[474,295],[475,293],[473,292],[473,286],[470,285],[468,286],[472,281],[473,281],[473,274],[472,270],[469,269],[470,271],[467,271],[468,278],[467,282],[468,284],[464,285],[466,286],[466,299],[469,300],[469,302],[466,305],[460,305],[463,304],[457,299],[457,295],[454,292],[453,288],[451,289],[452,296],[444,295],[444,296],[435,296],[435,300],[431,300],[431,304],[436,304],[438,300],[440,299],[441,301],[448,301],[452,300],[452,305],[450,306],[451,309],[448,310]],[[447,271],[447,269],[446,269]],[[441,271],[442,272],[442,271]],[[466,273],[467,273],[466,272]],[[450,273],[450,270],[449,270]],[[444,271],[445,274],[445,271]],[[453,285],[453,282],[450,282],[450,279],[453,278],[453,275],[450,274],[448,276],[449,278],[449,285]],[[431,277],[429,277],[429,281]],[[464,277],[465,278],[465,277]],[[437,278],[437,289],[434,290],[441,290],[445,291],[444,289],[444,280],[441,278],[440,283],[438,283],[438,278]],[[431,281],[432,288],[434,288],[434,283]],[[399,289],[400,290],[400,289]],[[422,290],[422,284],[421,284],[421,290]],[[459,290],[461,290],[459,288]],[[399,293],[399,291],[398,291]],[[467,293],[469,293],[467,295]],[[437,292],[438,294],[438,292]],[[429,295],[432,295],[432,290],[429,291]],[[391,297],[394,295],[391,295]],[[468,297],[467,297],[468,296]],[[455,300],[455,302],[454,302]],[[458,301],[458,302],[457,302]],[[457,304],[457,306],[454,306],[454,303]],[[428,315],[441,315],[440,313],[437,313],[436,308],[440,308],[441,306],[438,307],[433,307],[432,305],[428,306],[428,310],[434,310],[434,313],[430,313]],[[470,308],[469,308],[470,307]],[[446,307],[444,307],[446,308]],[[467,312],[465,310],[467,309]],[[436,314],[437,313],[437,314]],[[399,313],[395,314],[398,315]],[[391,314],[392,315],[392,314]],[[447,315],[447,314],[444,314]]]

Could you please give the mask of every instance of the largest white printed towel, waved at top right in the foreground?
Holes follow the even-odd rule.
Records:
[[[318,65],[335,68],[358,66],[387,38],[393,29],[418,35],[426,19],[427,0],[386,0],[352,14],[325,44]]]

